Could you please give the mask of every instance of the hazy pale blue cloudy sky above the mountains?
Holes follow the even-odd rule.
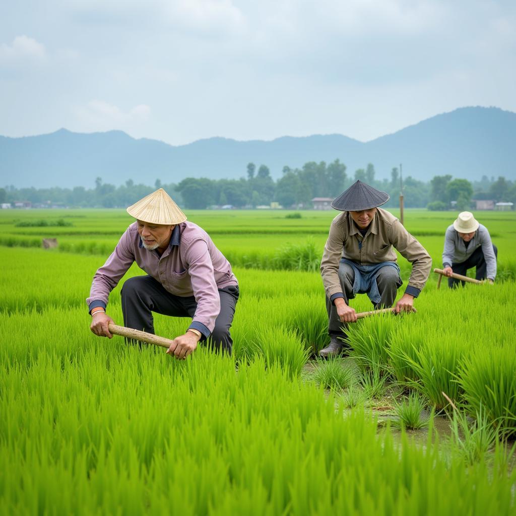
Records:
[[[0,11],[0,135],[362,141],[516,111],[516,2],[45,0]]]

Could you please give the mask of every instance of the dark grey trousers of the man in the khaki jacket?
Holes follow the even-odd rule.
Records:
[[[347,263],[339,264],[338,279],[341,281],[344,301],[346,301],[346,304],[349,304],[349,300],[354,298],[354,272],[352,267]],[[381,299],[380,302],[375,305],[375,309],[392,307],[394,300],[396,299],[398,286],[401,285],[401,279],[399,277],[398,271],[394,267],[382,267],[378,271],[376,284],[378,285],[378,292],[380,293]],[[342,336],[341,328],[343,326],[345,327],[346,324],[341,322],[338,318],[337,309],[330,301],[329,297],[326,297],[326,310],[328,312],[328,333],[332,337]]]

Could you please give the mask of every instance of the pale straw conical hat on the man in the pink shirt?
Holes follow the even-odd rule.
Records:
[[[186,220],[186,215],[163,188],[129,206],[127,213],[151,224],[180,224]]]

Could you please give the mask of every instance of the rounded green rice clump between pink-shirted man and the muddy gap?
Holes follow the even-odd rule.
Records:
[[[283,326],[265,325],[257,329],[251,346],[253,356],[263,356],[267,367],[279,366],[291,378],[301,374],[308,360],[308,351],[297,333]]]

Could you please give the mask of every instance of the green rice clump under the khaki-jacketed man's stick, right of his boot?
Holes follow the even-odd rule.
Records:
[[[346,342],[352,348],[349,354],[357,360],[362,371],[378,367],[384,373],[395,323],[392,314],[378,314],[348,325]]]

